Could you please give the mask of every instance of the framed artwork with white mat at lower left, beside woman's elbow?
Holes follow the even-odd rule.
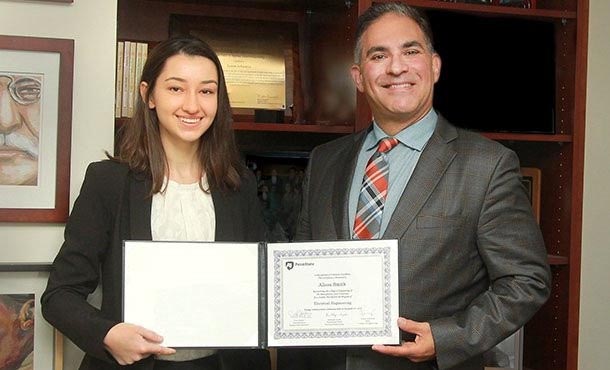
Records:
[[[2,369],[61,370],[63,337],[42,317],[48,264],[0,264]]]

